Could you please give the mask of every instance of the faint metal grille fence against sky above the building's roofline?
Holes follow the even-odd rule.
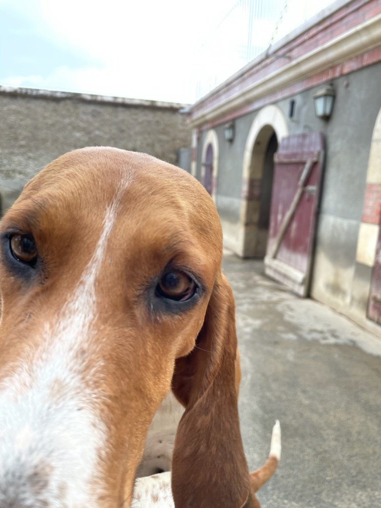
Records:
[[[332,0],[238,0],[216,19],[199,49],[197,100]],[[226,5],[226,4],[225,4]]]

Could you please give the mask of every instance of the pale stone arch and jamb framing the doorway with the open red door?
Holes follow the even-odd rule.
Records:
[[[243,155],[240,210],[243,257],[265,255],[267,230],[259,228],[261,187],[269,143],[274,135],[279,144],[282,138],[289,135],[289,128],[282,111],[275,105],[269,105],[262,108],[253,120]]]

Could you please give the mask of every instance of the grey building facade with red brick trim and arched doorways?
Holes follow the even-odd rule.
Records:
[[[380,83],[381,2],[339,0],[188,114],[225,245],[381,337]]]

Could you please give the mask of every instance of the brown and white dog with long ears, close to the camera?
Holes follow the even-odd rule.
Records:
[[[75,150],[25,186],[0,235],[1,508],[259,506],[280,436],[250,476],[234,300],[202,185],[148,155]],[[171,389],[185,407],[173,500],[143,504],[157,482],[134,495],[136,471]]]

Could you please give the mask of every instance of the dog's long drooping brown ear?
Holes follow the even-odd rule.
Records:
[[[172,461],[176,508],[253,506],[238,421],[234,299],[220,275],[196,347],[176,361],[172,389],[186,409]]]

